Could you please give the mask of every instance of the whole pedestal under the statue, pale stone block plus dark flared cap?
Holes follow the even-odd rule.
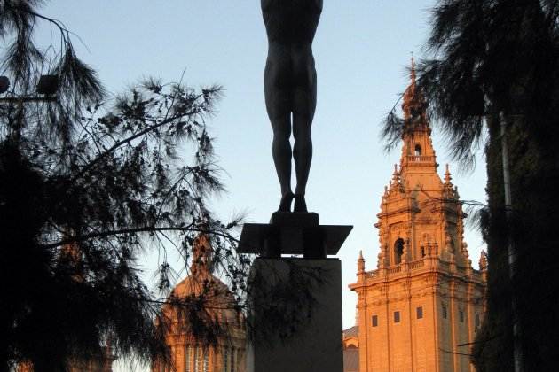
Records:
[[[273,213],[244,225],[238,252],[251,268],[248,372],[342,372],[342,272],[336,254],[352,226],[317,213]],[[303,255],[303,258],[282,255]]]

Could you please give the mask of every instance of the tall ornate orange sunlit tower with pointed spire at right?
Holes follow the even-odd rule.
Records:
[[[405,89],[405,128],[374,225],[377,269],[358,259],[359,371],[474,371],[468,353],[484,314],[485,270],[472,268],[448,166],[437,174],[425,100]]]

